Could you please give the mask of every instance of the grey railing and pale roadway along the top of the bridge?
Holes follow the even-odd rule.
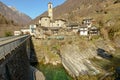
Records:
[[[6,55],[11,53],[11,51],[15,50],[29,38],[29,35],[23,35],[0,40],[0,60],[5,59]]]

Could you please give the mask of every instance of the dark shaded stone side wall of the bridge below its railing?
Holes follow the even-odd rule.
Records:
[[[17,47],[0,63],[0,80],[30,80],[26,43]]]

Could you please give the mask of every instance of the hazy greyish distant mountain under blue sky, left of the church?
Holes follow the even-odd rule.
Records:
[[[31,18],[19,11],[13,9],[12,7],[8,7],[2,2],[0,2],[0,13],[4,15],[7,19],[13,20],[18,24],[27,24],[31,21]]]

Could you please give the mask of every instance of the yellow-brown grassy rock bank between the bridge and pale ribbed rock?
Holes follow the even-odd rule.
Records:
[[[57,50],[54,49],[57,42],[54,40],[36,40],[34,38],[32,38],[32,41],[36,52],[35,57],[39,63],[53,65],[61,63],[61,58],[57,55]]]

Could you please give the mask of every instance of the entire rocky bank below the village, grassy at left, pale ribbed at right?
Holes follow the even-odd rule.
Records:
[[[114,54],[115,44],[102,38],[88,41],[86,38],[65,40],[35,40],[33,39],[38,62],[43,64],[62,64],[66,71],[74,78],[80,75],[98,75],[104,70],[91,59],[103,60],[97,55],[97,49],[104,49]],[[119,42],[118,42],[119,43]]]

